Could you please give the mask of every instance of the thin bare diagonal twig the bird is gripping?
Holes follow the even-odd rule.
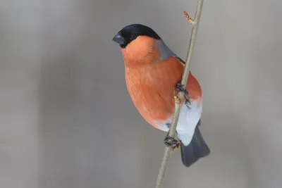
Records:
[[[201,17],[201,13],[202,13],[202,6],[203,6],[203,2],[204,2],[204,0],[197,0],[197,1],[198,2],[197,2],[196,13],[195,13],[195,20],[192,20],[192,18],[190,18],[190,16],[188,15],[188,13],[186,11],[184,12],[185,17],[192,24],[190,44],[189,44],[188,53],[187,53],[187,57],[186,57],[186,61],[185,61],[186,63],[185,63],[184,73],[183,73],[182,80],[181,80],[181,84],[184,85],[184,88],[186,88],[188,76],[189,76],[189,73],[190,73],[189,64],[192,60],[192,54],[193,54],[194,49],[195,49],[197,30],[198,30],[200,17]],[[183,101],[184,92],[178,93],[178,95],[175,96],[175,98],[176,98],[175,109],[174,109],[173,118],[172,118],[172,122],[171,122],[171,129],[168,132],[168,135],[170,137],[174,137],[175,134],[176,134],[176,126],[177,126],[178,118],[179,118],[179,114],[180,114],[180,106],[182,104],[181,102],[179,103],[179,101]],[[157,182],[156,182],[155,188],[161,187],[161,183],[164,180],[164,173],[166,172],[166,166],[168,164],[168,158],[171,156],[171,152],[172,152],[172,148],[170,146],[166,146],[166,148],[164,150],[163,160],[161,161],[161,167],[159,168],[159,175],[157,177]]]

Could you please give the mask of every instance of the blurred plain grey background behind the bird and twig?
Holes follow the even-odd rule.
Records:
[[[166,133],[128,96],[123,26],[152,27],[185,59],[196,0],[25,0],[0,6],[0,184],[154,187]],[[173,153],[164,187],[282,186],[282,1],[205,1],[192,73],[212,153]]]

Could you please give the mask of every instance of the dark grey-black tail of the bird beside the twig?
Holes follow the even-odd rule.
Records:
[[[194,164],[200,158],[204,158],[208,156],[211,152],[209,150],[209,146],[207,146],[206,142],[202,138],[202,134],[199,130],[200,121],[195,129],[192,141],[188,146],[184,146],[182,143],[180,145],[181,149],[181,159],[183,165],[189,167]]]

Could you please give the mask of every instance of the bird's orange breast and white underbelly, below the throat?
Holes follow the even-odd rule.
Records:
[[[125,68],[126,86],[133,104],[142,117],[159,130],[167,132],[171,127],[173,92],[182,73],[183,65],[169,61],[142,68]],[[190,76],[190,80],[193,78]],[[181,107],[177,126],[178,137],[185,145],[191,142],[202,114],[200,86],[192,81],[188,82],[190,88],[186,87],[192,103],[190,107],[185,104]]]

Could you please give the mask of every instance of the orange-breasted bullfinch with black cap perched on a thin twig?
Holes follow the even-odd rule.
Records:
[[[120,46],[125,67],[125,82],[135,108],[149,125],[169,132],[175,108],[175,92],[185,92],[180,104],[176,133],[178,139],[164,139],[167,146],[180,145],[181,160],[190,167],[209,156],[210,149],[200,132],[202,88],[189,73],[186,87],[180,84],[185,61],[166,46],[151,27],[130,24],[119,30],[112,41]]]

